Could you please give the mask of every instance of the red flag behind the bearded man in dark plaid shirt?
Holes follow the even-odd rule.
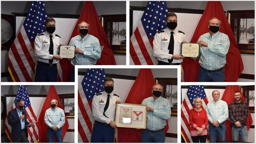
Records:
[[[239,86],[227,86],[223,93],[222,100],[225,101],[227,103],[227,105],[229,105],[230,103],[232,103],[235,100],[234,92],[237,90],[239,90],[241,92],[241,89],[239,88]],[[242,92],[241,92],[241,95],[242,95],[241,100],[245,101],[245,97]],[[247,118],[246,122],[247,122],[247,130],[249,130],[249,128],[251,127],[251,124],[252,124],[252,117],[251,117],[250,111],[248,113],[248,118]],[[231,122],[226,120],[225,124],[226,124],[226,140],[232,140],[231,127],[230,127]]]

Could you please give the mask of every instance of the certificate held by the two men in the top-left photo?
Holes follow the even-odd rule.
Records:
[[[75,57],[75,46],[74,45],[61,45],[59,47],[59,55],[62,58]]]

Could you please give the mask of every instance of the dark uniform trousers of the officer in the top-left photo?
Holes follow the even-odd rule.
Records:
[[[57,82],[58,67],[57,64],[48,64],[37,61],[35,66],[34,82]]]

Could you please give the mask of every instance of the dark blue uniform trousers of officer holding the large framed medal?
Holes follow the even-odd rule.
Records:
[[[94,123],[91,143],[113,143],[115,141],[115,129],[110,125]]]

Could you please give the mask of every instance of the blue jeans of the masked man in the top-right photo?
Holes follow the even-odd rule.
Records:
[[[198,82],[225,82],[224,69],[217,72],[208,72],[200,67]]]

